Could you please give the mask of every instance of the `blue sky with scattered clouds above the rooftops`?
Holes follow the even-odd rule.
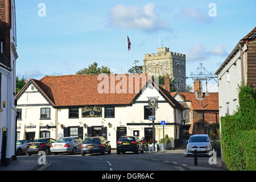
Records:
[[[255,0],[15,1],[16,75],[75,75],[93,62],[126,73],[127,35],[129,68],[134,60],[143,65],[144,55],[156,53],[160,42],[186,55],[187,77],[200,63],[214,74],[256,26],[255,7]],[[193,86],[192,78],[187,85]],[[218,92],[215,80],[208,81],[208,92]]]

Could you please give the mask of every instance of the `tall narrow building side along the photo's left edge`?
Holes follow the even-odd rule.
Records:
[[[0,1],[0,167],[15,160],[16,23],[14,0]]]

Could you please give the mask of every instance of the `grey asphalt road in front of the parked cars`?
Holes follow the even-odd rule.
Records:
[[[29,159],[28,159],[29,158]],[[47,155],[46,162],[39,170],[43,171],[180,171],[170,163],[162,163],[150,160],[153,154],[126,154],[117,155],[115,150],[112,154],[59,154]],[[18,156],[18,160],[38,160],[38,155]]]

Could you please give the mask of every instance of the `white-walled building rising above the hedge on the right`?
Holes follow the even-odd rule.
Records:
[[[244,81],[256,89],[256,27],[247,34],[217,69],[220,117],[233,115],[238,106],[238,85]]]

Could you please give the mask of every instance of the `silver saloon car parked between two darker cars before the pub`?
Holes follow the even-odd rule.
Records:
[[[50,150],[54,155],[65,152],[76,154],[81,152],[81,144],[82,139],[79,137],[63,137],[52,143]]]

